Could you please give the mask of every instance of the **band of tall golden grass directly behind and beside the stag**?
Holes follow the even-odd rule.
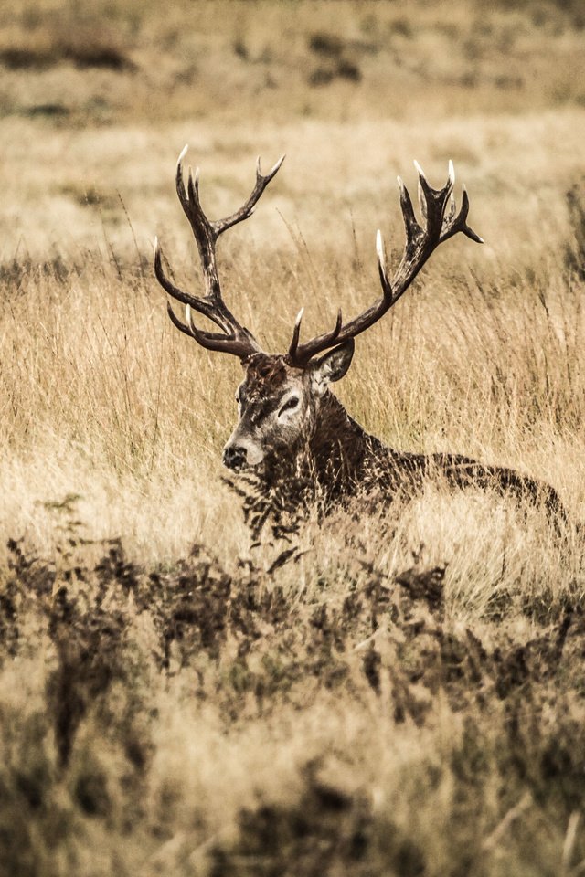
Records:
[[[323,291],[319,312],[309,309],[314,326],[331,321],[337,305],[357,312],[378,294],[374,266],[363,267],[366,248],[338,253],[331,274],[334,254],[309,248],[307,256],[299,246],[282,264],[260,243],[245,252],[242,241],[225,260],[229,300],[272,349],[287,343],[293,312],[309,301],[300,290],[311,283]],[[427,282],[359,339],[355,374],[340,392],[395,447],[452,450],[525,470],[553,483],[578,518],[582,280],[565,269],[562,249],[538,270],[480,257],[463,239],[446,245]],[[80,492],[103,534],[120,521],[118,503],[106,500],[114,490],[125,506],[124,535],[132,534],[139,554],[156,554],[167,529],[152,517],[152,498],[161,513],[170,503],[171,533],[185,533],[183,550],[202,507],[211,528],[204,532],[214,538],[211,507],[220,513],[226,502],[219,450],[236,416],[239,365],[176,333],[149,266],[136,261],[137,269],[126,269],[122,259],[94,254],[82,268],[16,265],[7,274],[4,514],[17,529],[34,530],[39,498]]]

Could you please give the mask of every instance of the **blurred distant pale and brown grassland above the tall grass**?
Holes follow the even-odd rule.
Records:
[[[211,213],[245,195],[258,153],[287,153],[285,221],[261,210],[279,247],[301,216],[317,247],[363,231],[371,249],[413,158],[437,185],[453,159],[489,237],[581,172],[584,36],[580,0],[3,4],[0,263],[150,260],[181,221],[184,143]]]

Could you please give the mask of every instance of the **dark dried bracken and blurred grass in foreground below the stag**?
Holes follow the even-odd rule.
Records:
[[[118,541],[86,565],[74,504],[55,562],[8,545],[12,873],[558,866],[582,805],[582,586],[519,581],[464,620],[444,566],[388,575],[356,539],[305,593],[200,545],[172,571]]]

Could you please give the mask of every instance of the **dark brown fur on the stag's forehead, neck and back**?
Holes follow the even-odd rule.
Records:
[[[293,369],[284,357],[258,354],[247,365],[242,386],[249,405],[259,406],[282,396],[293,378],[302,377],[303,372]],[[339,502],[370,492],[388,502],[397,495],[410,499],[426,480],[435,477],[452,488],[494,489],[517,500],[543,502],[557,528],[558,517],[566,519],[557,492],[544,482],[458,454],[423,455],[388,448],[367,434],[329,390],[318,399],[310,390],[307,395],[313,410],[307,414],[305,430],[285,452],[282,447],[267,448],[264,460],[254,469],[264,501],[270,497],[281,511],[296,512],[317,501],[326,512]]]

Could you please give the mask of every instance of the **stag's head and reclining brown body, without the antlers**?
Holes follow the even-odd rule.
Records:
[[[277,491],[287,511],[307,500],[327,508],[372,492],[382,501],[408,499],[435,477],[449,487],[540,498],[549,512],[563,514],[556,491],[515,470],[485,466],[461,454],[399,451],[367,433],[327,386],[345,375],[352,354],[353,344],[338,348],[335,359],[328,354],[315,366],[317,375],[299,373],[284,357],[253,357],[238,388],[239,423],[224,449],[229,469],[254,470],[264,491]],[[314,386],[319,382],[321,392]],[[279,424],[282,419],[288,420],[286,427]]]

